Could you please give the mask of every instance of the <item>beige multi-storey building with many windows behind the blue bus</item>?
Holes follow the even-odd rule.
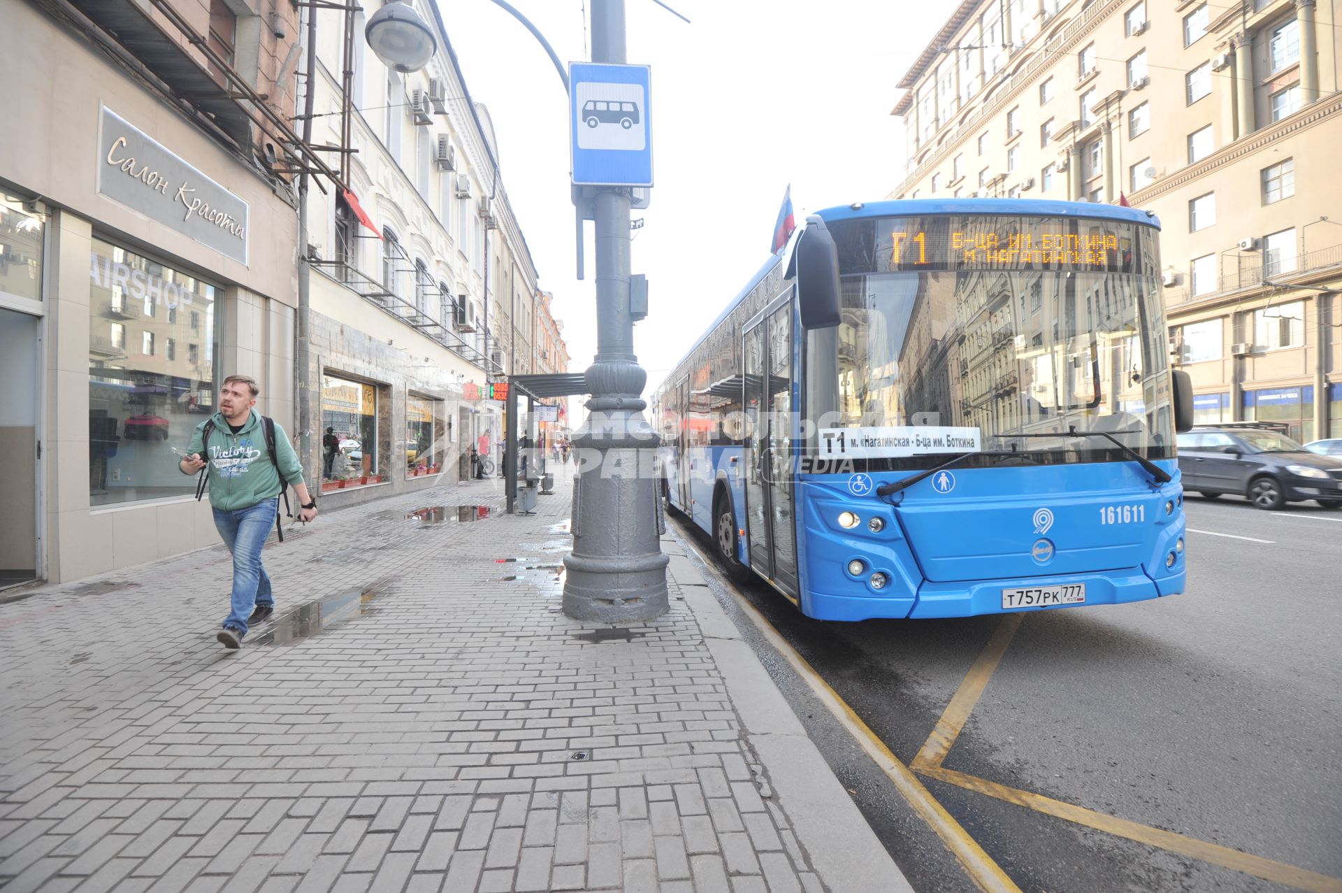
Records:
[[[968,0],[899,82],[890,197],[1127,201],[1162,224],[1198,422],[1342,436],[1339,0]]]

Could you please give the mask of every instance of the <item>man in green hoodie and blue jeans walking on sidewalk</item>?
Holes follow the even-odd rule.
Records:
[[[256,381],[246,375],[224,379],[219,391],[219,412],[196,426],[187,449],[189,455],[177,466],[183,474],[209,469],[209,505],[215,513],[215,528],[234,555],[232,604],[216,637],[228,649],[240,647],[248,626],[260,623],[275,610],[275,595],[262,567],[260,551],[279,516],[280,475],[298,497],[298,520],[306,522],[317,517],[317,500],[307,494],[303,466],[278,424],[274,426],[275,458],[271,458],[266,424],[252,408],[258,393]],[[211,428],[208,438],[207,426]]]

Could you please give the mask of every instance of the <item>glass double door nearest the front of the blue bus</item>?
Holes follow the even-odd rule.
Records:
[[[746,526],[750,564],[797,595],[792,467],[792,303],[784,302],[745,333]]]

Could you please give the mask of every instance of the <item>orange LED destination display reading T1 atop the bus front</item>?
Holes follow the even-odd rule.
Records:
[[[833,224],[843,273],[1133,273],[1138,227],[1114,220],[946,215]]]

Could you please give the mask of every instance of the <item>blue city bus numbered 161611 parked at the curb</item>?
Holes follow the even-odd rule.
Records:
[[[807,218],[652,396],[667,509],[819,619],[1182,592],[1158,232],[1041,200]]]

